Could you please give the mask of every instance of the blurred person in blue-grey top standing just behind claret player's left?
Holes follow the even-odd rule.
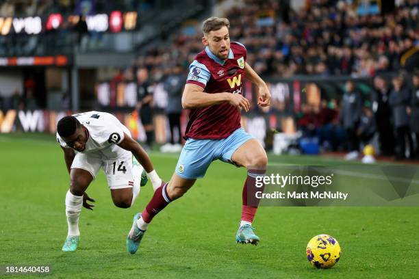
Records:
[[[177,64],[173,68],[173,72],[164,81],[164,90],[168,94],[168,105],[166,107],[166,113],[170,125],[170,144],[172,148],[181,150],[181,124],[180,117],[182,112],[182,92],[183,85],[185,84],[186,75],[184,75],[182,67]],[[177,134],[177,140],[175,140],[175,134]]]

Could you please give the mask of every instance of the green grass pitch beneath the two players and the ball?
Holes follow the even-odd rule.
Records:
[[[151,154],[164,179],[178,155]],[[261,207],[259,245],[235,242],[246,170],[214,162],[205,178],[155,217],[137,254],[125,237],[151,198],[142,188],[131,209],[112,204],[103,173],[88,189],[77,252],[61,251],[68,174],[51,135],[0,135],[0,265],[50,265],[49,278],[414,278],[419,274],[419,207]],[[270,162],[339,164],[320,157]],[[327,233],[340,242],[332,269],[314,269],[305,247]],[[20,276],[10,276],[18,278]],[[27,275],[21,275],[27,277]]]

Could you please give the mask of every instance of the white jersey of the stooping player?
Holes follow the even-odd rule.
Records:
[[[124,133],[131,136],[118,118],[112,114],[101,111],[88,111],[82,114],[73,114],[77,120],[88,130],[86,148],[81,153],[99,152],[107,158],[116,158],[121,152],[126,152],[116,144],[124,139]],[[70,148],[57,133],[57,141],[64,148]]]

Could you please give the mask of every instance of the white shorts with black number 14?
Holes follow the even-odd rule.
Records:
[[[123,152],[116,159],[108,159],[97,153],[77,153],[71,168],[87,170],[92,174],[93,179],[103,168],[110,189],[132,188],[134,185],[132,156],[129,151]],[[139,178],[136,179],[136,182],[139,183]]]

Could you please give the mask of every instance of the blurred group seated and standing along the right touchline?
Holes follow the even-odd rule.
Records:
[[[314,137],[323,150],[346,150],[346,159],[359,156],[366,145],[396,159],[419,159],[419,71],[390,79],[377,75],[374,90],[363,96],[346,81],[342,101],[322,99],[319,106],[303,105],[296,114],[303,137]],[[375,141],[375,142],[374,142]]]

